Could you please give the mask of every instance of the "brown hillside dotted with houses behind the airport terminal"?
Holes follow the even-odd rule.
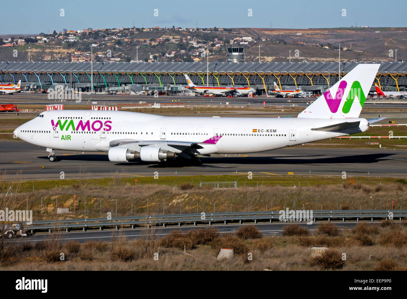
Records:
[[[245,37],[246,39],[243,39]],[[249,39],[250,38],[250,39]],[[37,37],[0,35],[0,61],[226,61],[226,48],[245,48],[245,61],[398,61],[407,55],[407,28],[113,28]],[[138,51],[137,48],[138,47]],[[17,50],[17,53],[13,50]],[[389,55],[389,51],[393,55]],[[391,54],[391,53],[390,53]],[[17,56],[16,56],[17,55]]]

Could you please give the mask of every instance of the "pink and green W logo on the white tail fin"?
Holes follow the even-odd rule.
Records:
[[[339,105],[341,104],[342,97],[344,96],[344,92],[346,89],[346,86],[348,83],[345,80],[342,80],[339,82],[339,87],[337,89],[337,92],[335,94],[335,97],[332,96],[330,93],[330,90],[328,89],[326,92],[324,92],[324,98],[326,100],[326,104],[328,104],[329,110],[332,113],[336,113],[339,109]],[[348,97],[346,98],[346,101],[344,103],[344,107],[342,107],[342,112],[343,113],[349,113],[350,108],[353,105],[354,99],[355,98],[359,99],[359,103],[361,107],[363,108],[363,105],[365,104],[366,97],[365,94],[363,93],[361,84],[359,81],[354,81],[352,83],[352,86],[350,87]]]

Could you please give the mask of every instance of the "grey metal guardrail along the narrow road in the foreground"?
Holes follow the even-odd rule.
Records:
[[[313,221],[317,220],[343,220],[345,219],[356,219],[359,221],[360,218],[370,218],[372,221],[376,218],[389,218],[390,213],[392,213],[393,219],[407,218],[407,210],[313,210]],[[33,224],[27,227],[27,230],[39,231],[51,229],[66,229],[69,231],[74,228],[82,228],[83,231],[91,228],[103,227],[115,227],[131,225],[159,225],[162,224],[164,227],[166,224],[177,223],[181,226],[183,223],[197,225],[197,223],[221,223],[227,224],[227,222],[238,221],[242,223],[243,221],[254,221],[257,223],[258,220],[273,222],[274,220],[279,220],[280,211],[257,211],[257,212],[225,212],[225,213],[194,213],[194,214],[172,214],[172,215],[149,215],[149,216],[125,216],[125,217],[112,217],[108,219],[103,218],[83,218],[83,219],[63,219],[63,220],[41,220],[33,221]],[[305,219],[304,219],[305,221]]]

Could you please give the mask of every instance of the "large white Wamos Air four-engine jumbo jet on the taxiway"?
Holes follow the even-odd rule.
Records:
[[[176,156],[255,153],[366,131],[359,118],[380,64],[357,65],[297,118],[178,117],[129,111],[44,111],[15,137],[55,150],[107,151],[109,160],[160,162]]]

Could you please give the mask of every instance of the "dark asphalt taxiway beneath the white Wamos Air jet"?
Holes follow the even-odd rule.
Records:
[[[182,164],[182,159],[160,164],[146,162],[110,162],[107,153],[56,151],[58,162],[49,162],[45,148],[19,140],[0,142],[0,169],[9,178],[65,179],[81,177],[153,176],[160,175],[337,175],[343,171],[348,176],[406,177],[407,151],[341,148],[282,148],[275,151],[246,155],[212,155],[202,157],[202,165]],[[21,174],[18,175],[18,172]]]

